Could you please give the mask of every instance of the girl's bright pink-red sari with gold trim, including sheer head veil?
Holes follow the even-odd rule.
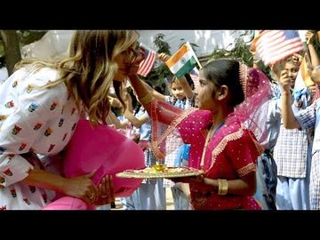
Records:
[[[265,117],[270,99],[270,81],[260,70],[245,68],[240,75],[244,85],[245,100],[227,116],[225,124],[214,132],[204,155],[205,177],[210,179],[241,179],[255,172],[257,157],[263,151],[259,142],[267,136]],[[200,169],[204,143],[212,113],[206,110],[188,109],[181,111],[171,105],[153,100],[151,102],[152,127],[156,129],[151,141],[157,157],[165,153],[162,144],[177,128],[185,143],[191,144],[189,166]],[[164,132],[158,131],[161,124],[169,125]],[[195,209],[260,209],[252,196],[220,196],[207,185],[190,185],[191,203]]]

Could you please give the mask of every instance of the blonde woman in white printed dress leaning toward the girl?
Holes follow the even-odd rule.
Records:
[[[48,169],[60,162],[81,115],[106,124],[109,87],[114,82],[119,92],[137,38],[135,31],[75,31],[68,58],[22,60],[0,85],[1,209],[42,209],[57,192],[90,205],[114,201],[109,176],[96,187],[94,172],[67,179]]]

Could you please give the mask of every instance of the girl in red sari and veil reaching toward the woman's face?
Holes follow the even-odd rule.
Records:
[[[263,151],[257,139],[264,138],[268,78],[236,60],[213,60],[200,70],[199,109],[182,110],[154,99],[135,74],[129,77],[151,116],[156,156],[164,156],[165,137],[177,128],[191,144],[189,166],[204,170],[200,177],[175,179],[188,184],[193,208],[260,209],[252,195],[256,161]],[[164,132],[158,131],[160,123],[168,125]]]

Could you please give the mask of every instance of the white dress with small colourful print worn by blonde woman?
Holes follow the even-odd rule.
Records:
[[[41,209],[54,196],[52,191],[20,183],[36,166],[20,154],[49,156],[44,158],[50,165],[50,156],[66,147],[76,128],[79,114],[66,85],[36,87],[58,76],[50,68],[32,74],[22,68],[0,84],[0,176],[4,178],[0,209]]]

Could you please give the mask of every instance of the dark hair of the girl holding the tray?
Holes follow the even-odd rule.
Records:
[[[230,97],[228,106],[236,107],[244,101],[244,92],[239,79],[239,62],[236,60],[212,60],[203,68],[204,78],[214,85],[227,85]]]

